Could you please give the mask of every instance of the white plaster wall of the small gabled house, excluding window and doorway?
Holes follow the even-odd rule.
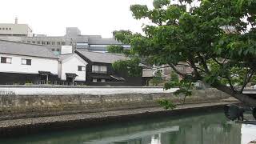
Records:
[[[82,58],[74,54],[72,57],[64,59],[61,65],[61,79],[66,81],[66,73],[74,73],[78,76],[74,81],[86,81],[86,71],[78,71],[78,66],[85,66],[87,62],[84,62]]]

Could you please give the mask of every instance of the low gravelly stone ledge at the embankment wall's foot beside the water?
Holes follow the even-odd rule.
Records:
[[[162,107],[133,110],[115,110],[90,114],[70,114],[53,117],[23,118],[0,121],[0,137],[12,137],[41,131],[70,130],[80,127],[98,126],[110,122],[127,122],[134,118],[152,118],[161,115],[180,115],[206,113],[206,111],[222,110],[223,106],[234,102],[212,102],[187,104],[174,110],[163,110]]]

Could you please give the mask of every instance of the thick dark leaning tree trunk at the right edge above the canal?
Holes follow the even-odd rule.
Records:
[[[253,98],[253,95],[249,94],[238,94],[230,89],[229,86],[214,86],[217,90],[220,90],[226,94],[230,94],[230,96],[233,96],[234,98],[237,98],[240,102],[248,105],[248,106],[256,106],[256,97]]]

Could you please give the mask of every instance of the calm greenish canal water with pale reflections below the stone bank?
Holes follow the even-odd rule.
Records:
[[[247,144],[256,126],[226,121],[222,112],[148,118],[107,126],[34,134],[4,144]]]

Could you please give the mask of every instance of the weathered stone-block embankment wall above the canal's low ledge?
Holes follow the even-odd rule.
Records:
[[[186,103],[219,102],[230,96],[215,89],[196,90]],[[126,110],[159,106],[158,100],[182,103],[182,96],[155,94],[0,94],[0,120],[39,116],[79,114],[97,111]]]

